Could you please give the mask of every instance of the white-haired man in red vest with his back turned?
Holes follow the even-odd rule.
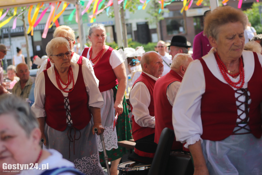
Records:
[[[155,142],[159,142],[162,130],[172,130],[172,107],[181,81],[189,63],[193,61],[189,54],[176,54],[170,66],[170,72],[156,81],[153,97],[155,107]],[[172,150],[182,150],[182,143],[174,138]]]

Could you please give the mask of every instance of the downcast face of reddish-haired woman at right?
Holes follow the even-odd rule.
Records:
[[[212,46],[217,48],[219,56],[222,58],[239,58],[245,44],[243,24],[230,22],[221,25],[218,31],[217,39],[212,43]]]

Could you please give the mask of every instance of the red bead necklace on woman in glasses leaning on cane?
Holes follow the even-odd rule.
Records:
[[[60,90],[62,90],[63,92],[66,92],[66,93],[71,92],[71,91],[74,89],[74,87],[75,87],[74,75],[73,75],[73,70],[72,70],[71,66],[69,66],[69,70],[68,70],[68,82],[67,82],[67,83],[64,83],[64,82],[62,81],[62,79],[61,79],[58,71],[56,70],[56,67],[54,67],[54,71],[55,71],[55,74],[56,74],[56,83],[57,83],[57,85],[58,85],[58,88],[59,88]],[[65,89],[68,88],[69,84],[70,84],[72,81],[73,81],[73,87],[72,87],[72,89],[70,89],[69,91],[66,91]],[[61,82],[63,85],[65,85],[65,88],[62,88],[62,85],[61,85],[60,82]]]

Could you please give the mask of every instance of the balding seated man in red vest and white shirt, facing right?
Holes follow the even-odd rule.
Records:
[[[154,52],[146,52],[141,58],[142,74],[135,81],[130,91],[133,121],[133,138],[135,150],[129,159],[137,162],[151,163],[157,144],[155,138],[155,111],[153,89],[156,80],[163,73],[163,60]],[[172,123],[172,122],[171,122]]]

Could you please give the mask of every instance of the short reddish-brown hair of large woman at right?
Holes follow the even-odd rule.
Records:
[[[217,39],[218,29],[221,25],[235,22],[243,24],[243,30],[245,30],[247,17],[241,10],[230,6],[217,7],[204,18],[204,34],[207,35],[208,38],[211,36]]]

